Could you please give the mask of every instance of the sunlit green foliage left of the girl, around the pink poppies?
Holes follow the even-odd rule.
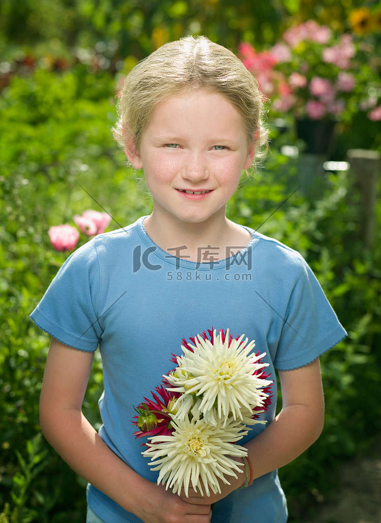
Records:
[[[62,74],[14,76],[0,98],[0,507],[10,505],[1,517],[12,523],[84,519],[83,480],[38,436],[49,338],[29,314],[67,257],[50,245],[49,226],[101,210],[76,182],[118,223],[149,212],[111,137],[114,96],[109,73],[91,77],[79,65]],[[83,408],[97,428],[102,389],[97,355]]]

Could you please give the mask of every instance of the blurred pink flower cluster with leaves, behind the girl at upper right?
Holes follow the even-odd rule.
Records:
[[[337,35],[307,20],[288,28],[271,49],[257,52],[241,43],[239,58],[271,99],[275,116],[292,110],[297,118],[349,122],[360,110],[381,119],[380,61],[371,36]]]

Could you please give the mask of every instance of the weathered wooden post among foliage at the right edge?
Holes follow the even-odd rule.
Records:
[[[347,156],[361,192],[361,227],[364,245],[371,249],[376,224],[377,184],[381,169],[381,154],[378,151],[366,149],[350,149]]]

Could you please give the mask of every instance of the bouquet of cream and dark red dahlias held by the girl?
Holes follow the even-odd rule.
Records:
[[[179,495],[184,488],[186,496],[192,484],[209,496],[221,492],[218,480],[229,484],[226,476],[242,472],[234,458],[248,453],[237,441],[248,434],[246,425],[266,423],[258,418],[271,403],[272,381],[263,374],[265,353],[250,354],[255,344],[244,335],[208,330],[190,342],[182,340],[183,355],[173,355],[176,367],[152,399],[134,407],[132,423],[137,438],[148,437],[142,454],[160,471],[158,484]]]

